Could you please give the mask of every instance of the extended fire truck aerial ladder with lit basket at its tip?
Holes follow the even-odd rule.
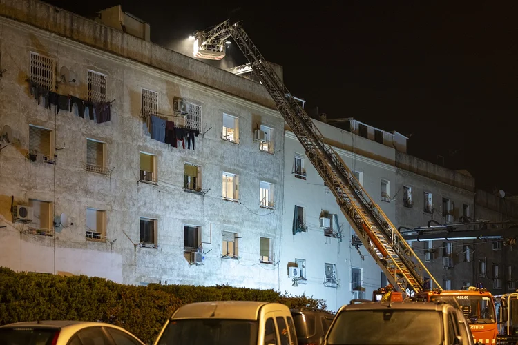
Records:
[[[291,96],[240,23],[231,24],[227,20],[208,31],[196,32],[194,37],[193,55],[202,59],[220,60],[225,55],[227,39],[231,37],[236,42],[387,280],[402,293],[410,295],[423,291],[425,276],[440,288],[387,215],[363,189],[332,146],[326,143],[320,130]]]

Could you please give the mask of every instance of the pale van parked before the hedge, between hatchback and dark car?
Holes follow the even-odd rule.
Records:
[[[297,345],[284,304],[218,301],[186,304],[167,320],[155,345]]]

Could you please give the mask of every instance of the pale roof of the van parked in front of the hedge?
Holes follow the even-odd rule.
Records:
[[[263,306],[281,310],[282,304],[251,301],[217,301],[186,304],[178,308],[171,319],[245,319],[256,320]]]

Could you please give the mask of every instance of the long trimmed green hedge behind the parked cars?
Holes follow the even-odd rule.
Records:
[[[279,302],[289,308],[325,310],[321,299],[227,285],[123,285],[85,275],[15,273],[0,267],[0,325],[48,319],[108,322],[152,342],[182,304],[204,301]]]

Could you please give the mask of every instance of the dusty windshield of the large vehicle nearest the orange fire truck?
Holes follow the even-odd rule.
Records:
[[[329,330],[327,344],[439,345],[443,342],[442,324],[439,311],[343,311]]]

